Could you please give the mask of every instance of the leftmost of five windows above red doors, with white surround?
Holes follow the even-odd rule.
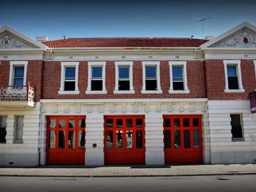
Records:
[[[61,62],[60,95],[79,94],[78,66],[79,62]]]

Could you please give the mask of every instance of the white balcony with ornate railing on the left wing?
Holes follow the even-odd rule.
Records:
[[[0,106],[17,107],[35,105],[35,90],[33,87],[26,86],[6,86],[0,87]]]

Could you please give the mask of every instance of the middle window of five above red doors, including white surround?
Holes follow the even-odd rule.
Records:
[[[132,61],[116,61],[116,87],[114,94],[134,94]]]

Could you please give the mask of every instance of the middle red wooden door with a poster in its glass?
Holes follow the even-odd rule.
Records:
[[[105,164],[145,164],[144,116],[105,116]]]

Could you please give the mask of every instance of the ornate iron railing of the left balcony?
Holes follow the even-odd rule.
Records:
[[[28,85],[0,87],[0,101],[34,101],[35,90]]]

